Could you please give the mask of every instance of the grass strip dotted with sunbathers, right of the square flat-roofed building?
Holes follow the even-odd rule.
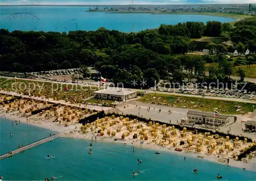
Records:
[[[201,111],[213,112],[217,109],[218,112],[223,114],[245,114],[253,111],[253,106],[256,104],[247,104],[242,102],[232,102],[224,100],[212,100],[206,98],[186,97],[186,96],[168,96],[165,94],[146,94],[138,101],[147,103],[155,102],[155,104],[172,105],[177,108],[197,109]],[[182,103],[183,101],[183,103]],[[236,111],[235,106],[241,106],[241,112]]]

